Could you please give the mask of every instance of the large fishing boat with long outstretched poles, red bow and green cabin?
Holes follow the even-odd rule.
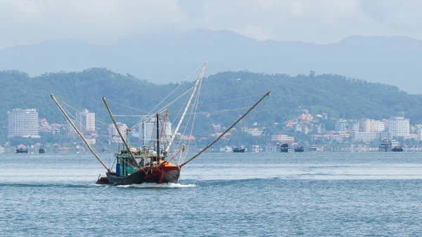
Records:
[[[83,134],[79,131],[79,129],[70,119],[68,113],[65,112],[65,109],[62,107],[62,105],[60,105],[56,97],[51,94],[51,98],[56,103],[63,115],[66,117],[68,122],[72,125],[73,129],[75,129],[79,137],[82,139],[82,141],[84,141],[85,145],[89,148],[89,150],[91,150],[91,153],[93,153],[97,160],[101,162],[103,167],[106,168],[106,177],[101,177],[100,175],[100,177],[98,177],[98,180],[96,181],[96,184],[110,184],[113,186],[120,186],[142,183],[177,183],[180,177],[181,168],[184,167],[184,165],[188,164],[188,162],[191,162],[193,159],[197,158],[198,155],[210,148],[227,132],[229,132],[232,127],[234,127],[238,122],[240,122],[243,117],[248,115],[248,113],[250,113],[250,111],[255,108],[255,106],[257,106],[262,100],[264,100],[265,97],[269,96],[270,91],[264,94],[264,96],[262,96],[260,100],[258,100],[254,105],[248,108],[248,110],[243,115],[241,115],[241,117],[239,117],[238,120],[234,122],[234,124],[231,124],[231,126],[228,127],[224,132],[222,132],[222,134],[220,134],[217,139],[212,141],[208,146],[205,146],[205,148],[201,149],[198,153],[196,153],[196,155],[193,155],[186,161],[183,158],[179,159],[179,162],[174,162],[179,153],[180,157],[182,156],[182,153],[184,153],[184,156],[186,157],[186,144],[179,143],[179,146],[177,146],[176,148],[174,148],[172,145],[175,143],[175,138],[179,132],[181,123],[184,120],[186,113],[188,112],[188,108],[190,108],[191,106],[191,102],[193,101],[194,96],[196,96],[196,102],[198,102],[199,93],[196,93],[196,91],[198,89],[198,85],[200,85],[200,79],[202,79],[203,77],[204,68],[205,62],[203,63],[202,69],[200,70],[200,74],[198,75],[195,84],[191,89],[188,90],[192,90],[191,95],[188,99],[188,102],[186,103],[186,107],[184,108],[184,112],[180,117],[176,129],[171,132],[170,136],[168,134],[165,134],[165,124],[166,120],[168,119],[167,108],[165,108],[165,110],[161,110],[161,112],[159,113],[155,113],[153,116],[143,118],[143,120],[139,122],[140,124],[142,124],[142,126],[144,125],[144,122],[147,119],[150,119],[155,123],[154,128],[152,129],[155,130],[155,139],[152,139],[151,137],[151,141],[153,141],[154,144],[153,146],[149,146],[148,148],[146,146],[143,146],[142,148],[133,148],[129,145],[129,129],[127,129],[126,134],[124,136],[123,133],[120,131],[119,126],[117,126],[115,116],[113,116],[113,113],[111,112],[108,106],[106,98],[103,97],[103,103],[104,105],[106,105],[110,118],[111,120],[113,120],[115,129],[117,130],[117,133],[119,134],[120,139],[124,144],[125,148],[124,150],[120,150],[118,153],[115,153],[115,166],[113,165],[114,167],[112,166],[111,168],[106,165],[106,163],[89,145],[87,140],[84,138]],[[197,106],[198,103],[195,103],[195,105]],[[164,115],[164,118],[162,118],[162,115]],[[164,143],[164,145],[162,143]]]

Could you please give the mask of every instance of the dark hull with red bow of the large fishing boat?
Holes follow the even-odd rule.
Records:
[[[177,184],[179,177],[180,169],[177,166],[146,167],[126,177],[117,177],[115,174],[107,173],[107,179],[105,177],[98,179],[96,184],[111,184],[113,186],[143,183]]]

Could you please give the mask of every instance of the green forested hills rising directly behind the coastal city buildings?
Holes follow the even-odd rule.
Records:
[[[191,87],[184,84],[183,88]],[[96,113],[98,120],[110,122],[101,97],[129,105],[139,110],[150,110],[165,98],[177,84],[153,84],[124,76],[104,68],[92,68],[83,72],[46,73],[29,77],[24,72],[0,72],[0,124],[7,123],[7,111],[13,108],[37,108],[39,117],[49,122],[63,122],[63,117],[49,94],[55,94],[73,108],[87,108]],[[283,122],[298,113],[299,106],[312,113],[328,113],[331,117],[359,119],[388,118],[404,115],[411,123],[422,122],[422,96],[409,95],[397,87],[374,84],[340,75],[264,75],[248,71],[222,72],[204,78],[200,92],[200,111],[215,111],[250,106],[260,96],[241,100],[235,98],[264,94],[271,90],[264,107],[258,108],[260,116],[251,115],[249,120],[262,124]],[[172,97],[174,98],[174,97]],[[167,101],[171,101],[168,98]],[[229,101],[229,103],[222,103]],[[183,102],[183,101],[181,101]],[[174,109],[180,104],[176,104]],[[136,115],[139,111],[127,110],[112,104],[118,115]],[[170,109],[170,111],[172,111]],[[229,125],[241,111],[211,113],[201,116],[198,127],[210,129],[207,124],[222,122]],[[208,115],[208,116],[205,116]],[[250,122],[249,121],[249,122]],[[134,119],[129,122],[134,122]],[[4,130],[4,129],[3,129]]]

